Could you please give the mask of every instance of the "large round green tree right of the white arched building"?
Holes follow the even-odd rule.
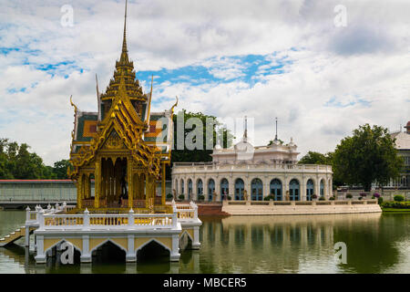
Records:
[[[403,168],[403,158],[397,155],[395,140],[388,130],[369,124],[344,138],[333,155],[333,172],[343,182],[360,184],[369,192],[372,183],[385,184],[396,178]]]

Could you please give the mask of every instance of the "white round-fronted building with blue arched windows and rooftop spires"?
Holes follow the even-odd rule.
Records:
[[[241,141],[229,149],[217,143],[212,162],[174,163],[172,190],[186,199],[197,200],[203,194],[205,201],[220,201],[224,194],[234,201],[261,201],[269,194],[276,201],[331,196],[332,167],[297,164],[296,149],[292,139],[283,144],[277,137],[271,145],[255,147],[245,130]]]

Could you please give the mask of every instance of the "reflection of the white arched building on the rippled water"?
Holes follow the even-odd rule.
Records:
[[[219,272],[294,273],[306,262],[315,261],[315,265],[323,266],[336,260],[333,232],[338,225],[349,228],[361,222],[378,224],[380,216],[334,214],[204,219],[201,253],[219,262],[213,266],[225,266]]]

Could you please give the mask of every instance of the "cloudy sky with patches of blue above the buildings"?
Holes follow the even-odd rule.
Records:
[[[124,4],[0,0],[0,137],[49,165],[67,159],[69,97],[97,110],[95,74],[105,90]],[[247,115],[256,145],[272,140],[278,117],[299,158],[333,151],[364,123],[394,131],[410,120],[409,30],[407,0],[128,1],[129,56],[145,91],[155,76],[153,110],[178,95],[179,110]]]

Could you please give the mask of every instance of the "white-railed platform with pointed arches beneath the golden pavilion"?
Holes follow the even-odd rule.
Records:
[[[128,263],[136,262],[138,251],[152,242],[169,251],[169,261],[179,261],[179,243],[183,236],[190,238],[191,249],[200,248],[198,206],[195,203],[172,202],[171,214],[100,214],[86,209],[79,213],[73,207],[58,206],[32,211],[26,209],[26,230],[34,230],[36,263],[46,264],[47,257],[56,256],[72,245],[79,252],[81,263],[91,263],[93,252],[108,242],[126,254]],[[30,249],[30,233],[26,233],[26,246]]]

